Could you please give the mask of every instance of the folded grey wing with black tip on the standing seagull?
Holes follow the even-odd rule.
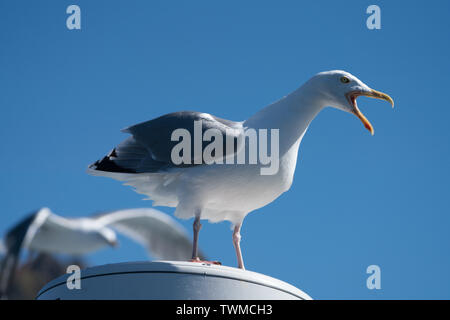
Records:
[[[242,147],[242,122],[221,119],[207,113],[195,111],[174,112],[159,118],[128,127],[123,132],[132,136],[114,148],[106,157],[90,165],[91,170],[121,173],[158,172],[171,167],[201,165],[204,162],[194,161],[198,155],[194,152],[194,125],[200,124],[201,136],[214,129],[222,137],[222,158],[234,155]],[[190,161],[175,164],[171,152],[179,141],[172,141],[172,133],[176,129],[184,129],[191,137]],[[211,140],[214,140],[212,138]],[[209,141],[202,141],[204,149]],[[227,148],[227,144],[232,147]]]

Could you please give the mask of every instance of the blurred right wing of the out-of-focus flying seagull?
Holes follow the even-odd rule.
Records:
[[[157,259],[191,258],[192,243],[184,228],[169,215],[156,209],[114,211],[100,216],[98,222],[142,244]]]

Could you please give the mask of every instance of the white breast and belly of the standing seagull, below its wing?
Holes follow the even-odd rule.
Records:
[[[201,216],[212,222],[242,220],[289,190],[297,163],[301,138],[280,157],[274,175],[261,175],[260,165],[215,164],[184,170],[177,181],[180,218],[193,216],[198,206]]]

